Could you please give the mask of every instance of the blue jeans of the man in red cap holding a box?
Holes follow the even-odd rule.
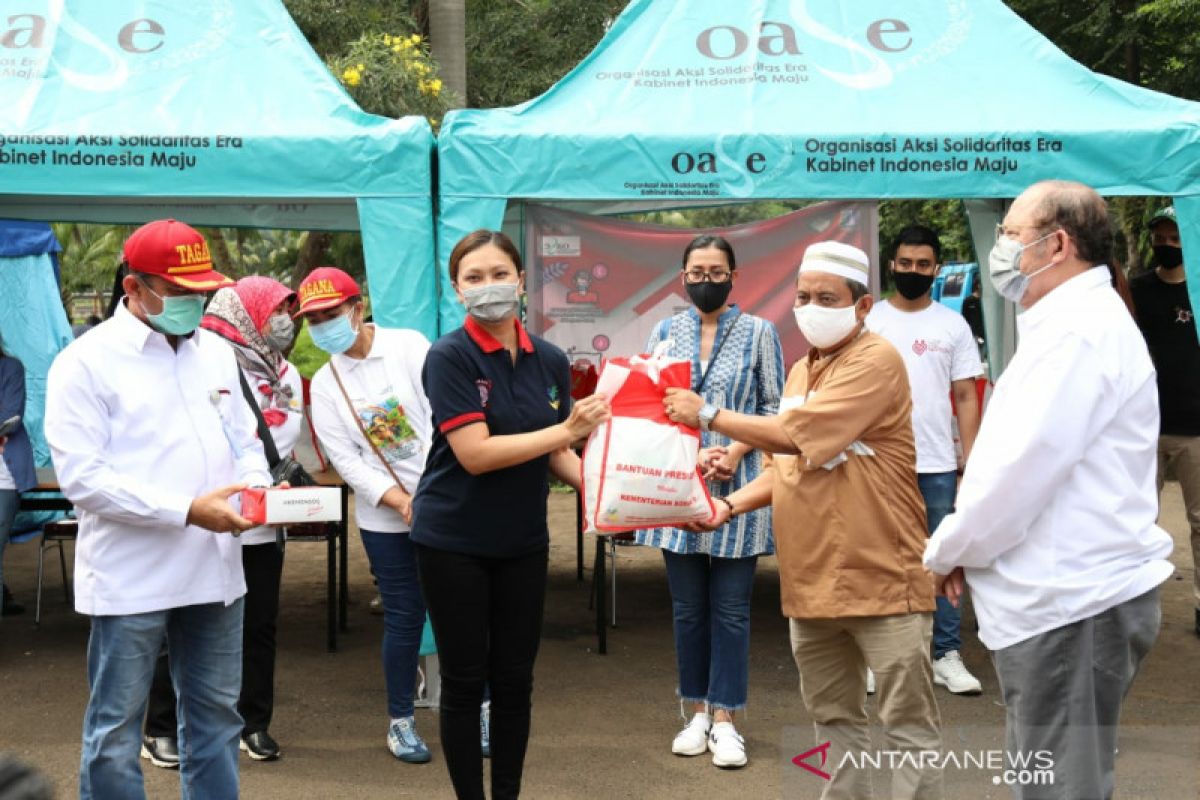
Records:
[[[142,717],[164,638],[179,698],[180,795],[238,796],[241,603],[91,618],[80,800],[145,798]]]

